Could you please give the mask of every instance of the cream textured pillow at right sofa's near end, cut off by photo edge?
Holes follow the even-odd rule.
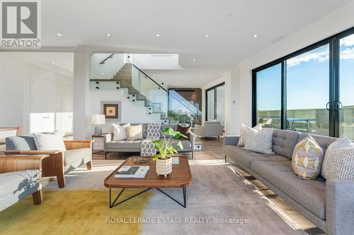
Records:
[[[354,143],[346,135],[327,148],[321,174],[324,179],[354,179]]]

